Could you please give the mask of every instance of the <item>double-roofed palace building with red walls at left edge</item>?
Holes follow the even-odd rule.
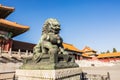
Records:
[[[13,7],[7,7],[0,4],[0,52],[7,52],[12,48],[12,38],[29,30],[28,26],[17,24],[6,20],[12,12]]]

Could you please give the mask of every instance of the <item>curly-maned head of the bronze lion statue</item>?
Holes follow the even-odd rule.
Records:
[[[42,34],[49,32],[58,34],[59,31],[60,31],[60,23],[58,22],[58,20],[49,18],[44,23]]]

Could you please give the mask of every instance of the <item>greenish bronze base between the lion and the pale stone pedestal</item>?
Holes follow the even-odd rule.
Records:
[[[52,56],[44,55],[40,59],[39,62],[30,61],[20,69],[25,70],[54,70],[54,69],[64,69],[64,68],[76,68],[79,67],[78,64],[75,63],[75,59],[73,56],[64,55],[64,54],[54,54]]]

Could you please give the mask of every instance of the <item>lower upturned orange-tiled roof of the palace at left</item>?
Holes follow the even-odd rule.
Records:
[[[29,30],[29,26],[23,26],[17,24],[16,22],[0,19],[0,30],[12,32],[13,33],[12,37],[15,37]]]

